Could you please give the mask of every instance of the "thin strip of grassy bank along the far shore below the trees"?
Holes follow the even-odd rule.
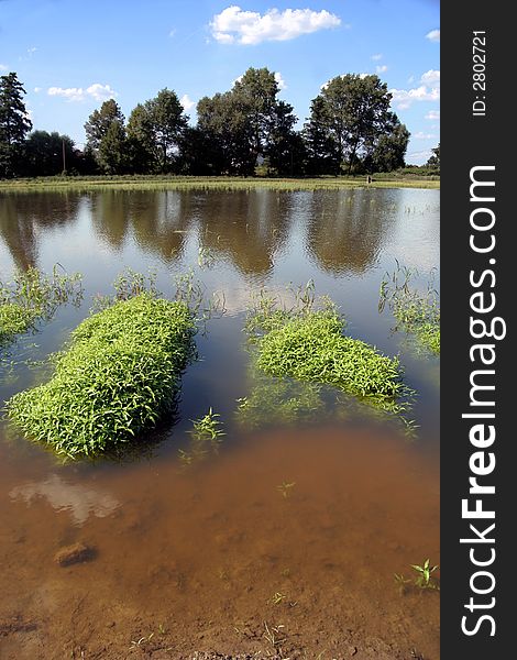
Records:
[[[389,176],[382,174],[366,184],[366,177],[318,177],[318,178],[240,178],[204,176],[85,176],[85,177],[41,177],[0,180],[0,193],[29,193],[54,190],[332,190],[337,188],[439,188],[439,178],[415,176]]]

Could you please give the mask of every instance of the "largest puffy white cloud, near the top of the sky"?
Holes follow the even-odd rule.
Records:
[[[264,41],[287,41],[340,24],[341,19],[324,9],[270,9],[261,14],[231,6],[213,16],[210,28],[213,38],[220,44],[251,45]]]

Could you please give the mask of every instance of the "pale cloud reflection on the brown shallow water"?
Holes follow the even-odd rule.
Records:
[[[56,512],[68,512],[78,526],[84,525],[90,516],[106,518],[120,506],[107,491],[68,484],[57,474],[51,474],[44,481],[15,486],[9,496],[14,501],[23,499],[28,505],[37,497],[44,497]]]

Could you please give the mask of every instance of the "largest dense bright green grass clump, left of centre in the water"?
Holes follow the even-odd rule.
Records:
[[[53,377],[14,395],[9,416],[72,458],[114,449],[173,409],[195,331],[184,302],[147,293],[121,300],[78,326]]]

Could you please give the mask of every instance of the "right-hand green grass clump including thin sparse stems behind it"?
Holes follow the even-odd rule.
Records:
[[[382,410],[400,414],[408,394],[396,358],[345,337],[344,319],[329,299],[316,308],[314,285],[295,292],[290,308],[264,293],[251,309],[246,329],[256,343],[255,364],[277,377],[331,385]]]

